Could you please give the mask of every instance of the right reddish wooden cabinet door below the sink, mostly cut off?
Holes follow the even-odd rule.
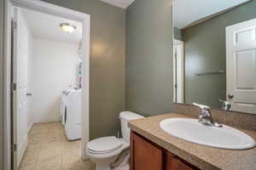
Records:
[[[199,170],[198,168],[189,165],[189,163],[184,162],[177,156],[174,156],[170,152],[166,152],[166,166],[165,170]]]

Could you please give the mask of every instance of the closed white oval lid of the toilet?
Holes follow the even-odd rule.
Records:
[[[111,137],[103,137],[100,139],[92,140],[88,143],[87,147],[91,152],[95,153],[107,153],[115,150],[119,150],[123,146],[121,140]]]

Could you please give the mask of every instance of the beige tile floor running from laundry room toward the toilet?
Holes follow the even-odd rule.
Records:
[[[61,165],[56,167],[55,170],[64,170],[64,169],[72,169],[72,170],[79,170],[79,166],[85,166],[84,170],[94,169],[95,167],[86,167],[88,166],[87,163],[90,162],[80,162],[80,155],[79,160],[77,160],[77,152],[80,148],[80,141],[70,142],[65,137],[64,128],[61,124],[51,124],[51,123],[45,123],[45,124],[35,124],[35,126],[32,127],[32,133],[29,133],[29,142],[28,147],[30,147],[29,151],[25,153],[24,156],[27,156],[26,161],[24,161],[24,167],[22,167],[20,170],[49,170],[51,167],[49,167],[48,162],[46,161],[45,167],[44,164],[40,164],[40,162],[44,161],[46,158],[44,156],[43,152],[48,152],[49,155],[54,149],[53,153],[56,152],[56,147],[58,147],[58,152],[60,154],[59,160],[61,161]],[[50,133],[50,134],[49,134]],[[65,139],[64,139],[65,138]],[[56,144],[56,145],[55,145]],[[53,148],[52,148],[53,147]],[[79,150],[80,151],[80,150]],[[80,154],[80,152],[79,152]],[[36,156],[36,157],[34,157]],[[43,157],[42,157],[43,156]],[[70,156],[70,157],[68,157]],[[66,160],[67,157],[67,160]],[[42,158],[42,160],[41,160]],[[41,160],[41,161],[40,161]],[[77,160],[77,161],[71,161],[71,160]],[[67,161],[64,162],[64,161]],[[54,161],[55,162],[55,161]],[[22,162],[21,162],[22,163]],[[50,163],[52,164],[52,163]],[[87,165],[86,165],[87,164]],[[53,164],[53,166],[56,166],[56,162]],[[78,167],[76,167],[78,166]]]

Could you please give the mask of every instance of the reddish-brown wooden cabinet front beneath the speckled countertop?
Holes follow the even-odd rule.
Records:
[[[158,144],[131,131],[131,170],[198,170]]]

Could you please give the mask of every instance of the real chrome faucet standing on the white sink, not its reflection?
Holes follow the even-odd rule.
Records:
[[[199,121],[204,125],[212,126],[212,127],[223,127],[218,122],[214,122],[212,119],[211,109],[207,105],[199,105],[196,103],[193,103],[193,105],[199,107],[201,109],[200,115],[199,115]]]

